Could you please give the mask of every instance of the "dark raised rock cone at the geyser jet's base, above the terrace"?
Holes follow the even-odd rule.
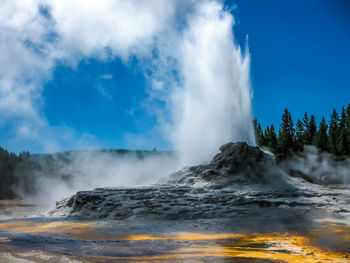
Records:
[[[277,167],[272,154],[245,142],[227,143],[208,164],[184,168],[170,175],[169,184],[201,185],[215,188],[235,184],[282,182],[284,173]]]

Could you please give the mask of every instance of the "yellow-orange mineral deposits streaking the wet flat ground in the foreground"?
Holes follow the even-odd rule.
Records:
[[[11,222],[0,224],[0,229],[16,230],[27,233],[50,234],[52,232],[66,233],[70,238],[94,239],[102,232],[99,227],[88,223],[77,222]],[[217,257],[217,258],[241,258],[241,259],[270,259],[276,262],[350,262],[350,254],[339,253],[315,246],[311,240],[315,235],[328,231],[337,233],[338,238],[344,242],[349,241],[349,226],[326,227],[325,229],[314,229],[310,236],[296,235],[292,233],[171,233],[168,235],[113,235],[108,234],[108,239],[138,241],[157,241],[161,245],[166,240],[189,241],[182,242],[181,248],[163,251],[151,256],[123,256],[108,257],[91,255],[96,260],[167,260],[193,259]],[[85,235],[82,235],[85,233]],[[200,242],[196,242],[200,241]]]

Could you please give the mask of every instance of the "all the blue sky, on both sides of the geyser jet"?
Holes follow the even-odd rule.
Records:
[[[296,122],[305,111],[319,120],[350,103],[348,1],[235,0],[225,6],[234,14],[237,42],[244,46],[248,36],[253,115],[263,126],[278,127],[285,107]],[[73,67],[58,64],[43,84],[40,114],[51,127],[64,125],[91,135],[99,147],[169,149],[154,134],[149,142],[130,142],[129,135],[147,137],[156,125],[154,114],[143,107],[146,86],[133,56],[127,62],[115,56],[86,57]],[[43,151],[35,143],[19,145],[11,139],[15,122],[0,127],[0,145],[16,152]],[[59,148],[75,147],[63,143]]]

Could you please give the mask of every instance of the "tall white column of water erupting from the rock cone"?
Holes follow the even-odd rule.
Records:
[[[233,16],[221,3],[198,5],[179,52],[182,89],[173,93],[172,141],[182,165],[210,160],[229,141],[255,143],[250,56],[235,44]]]

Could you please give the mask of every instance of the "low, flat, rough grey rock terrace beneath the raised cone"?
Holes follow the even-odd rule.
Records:
[[[348,200],[348,201],[346,201]],[[327,209],[330,213],[349,213],[349,196],[346,192],[330,189],[225,189],[191,187],[149,187],[95,189],[78,192],[57,203],[51,215],[84,219],[213,219],[249,215],[261,209],[272,213],[293,210],[312,213]],[[262,211],[260,211],[261,213]],[[293,212],[293,213],[294,213]]]

